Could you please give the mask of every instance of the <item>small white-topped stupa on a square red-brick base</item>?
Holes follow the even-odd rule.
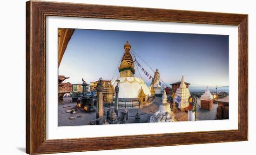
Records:
[[[207,87],[200,98],[201,109],[210,111],[212,108],[212,103],[213,103],[213,96],[211,95],[210,90]]]

